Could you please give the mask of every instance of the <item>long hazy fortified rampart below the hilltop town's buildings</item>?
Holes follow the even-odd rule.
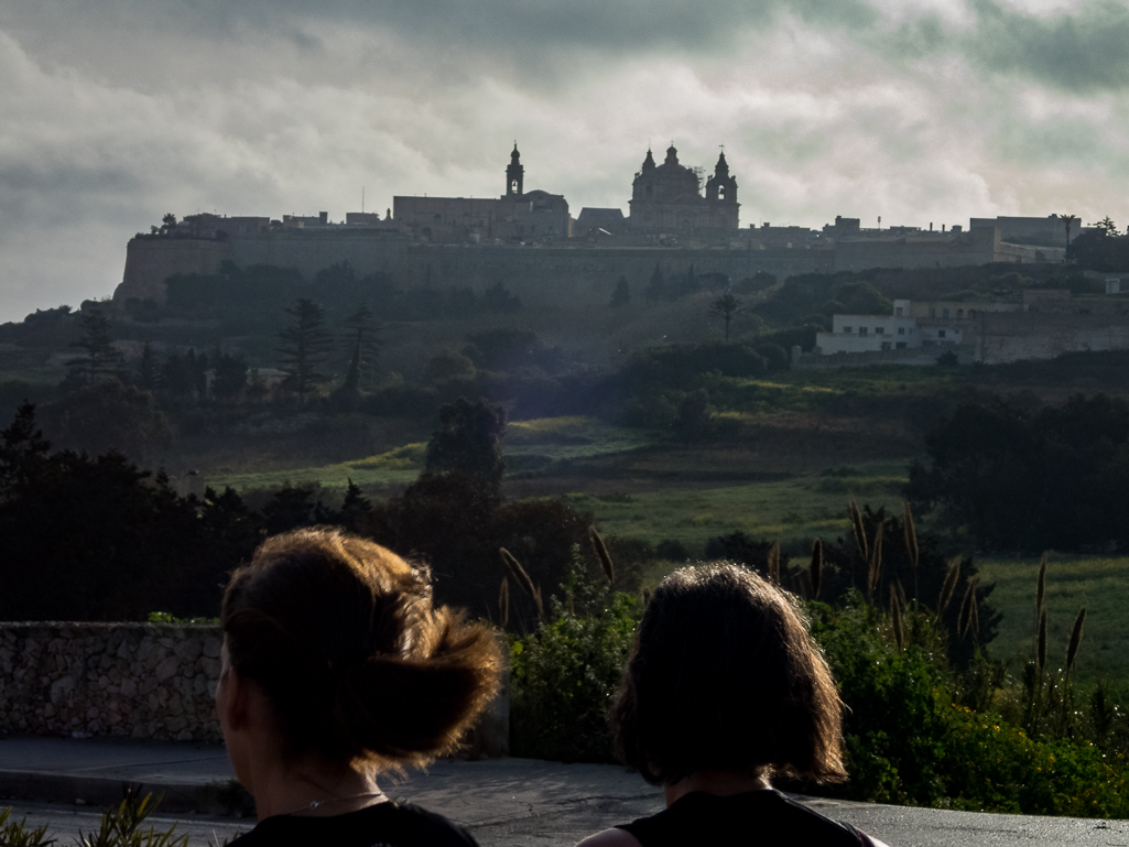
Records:
[[[743,237],[744,236],[744,237]],[[998,230],[918,234],[838,241],[824,247],[754,244],[755,230],[734,233],[726,246],[594,244],[557,239],[541,244],[435,244],[388,227],[271,227],[224,239],[139,235],[126,248],[125,273],[114,299],[164,299],[164,282],[176,273],[212,273],[225,261],[245,268],[296,268],[307,278],[348,262],[360,274],[385,273],[403,287],[498,282],[531,302],[610,296],[620,277],[641,291],[655,267],[667,277],[692,267],[699,276],[726,274],[733,282],[767,271],[798,273],[867,268],[934,268],[1035,261],[1035,248],[1001,243]],[[1043,259],[1061,259],[1043,248]]]

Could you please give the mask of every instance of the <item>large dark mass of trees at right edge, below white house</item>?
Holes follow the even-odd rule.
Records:
[[[1129,545],[1129,405],[1076,395],[965,403],[927,438],[907,494],[984,550]]]

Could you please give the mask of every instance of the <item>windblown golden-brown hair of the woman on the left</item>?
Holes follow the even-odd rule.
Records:
[[[493,634],[432,606],[430,573],[334,529],[268,539],[231,576],[230,664],[259,682],[287,754],[422,765],[498,688]]]

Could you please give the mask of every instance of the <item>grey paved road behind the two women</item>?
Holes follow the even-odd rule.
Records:
[[[81,793],[103,801],[120,796],[123,781],[155,791],[180,791],[189,802],[202,786],[231,778],[219,748],[191,744],[8,739],[0,741],[0,794],[16,817],[49,823],[68,844],[79,830],[97,827],[98,812]],[[30,786],[30,787],[27,787]],[[476,762],[440,761],[385,789],[467,826],[483,847],[557,847],[574,845],[599,829],[662,807],[660,793],[624,768],[561,765],[530,759]],[[196,795],[191,792],[198,791]],[[54,792],[54,803],[28,800]],[[76,800],[86,801],[76,805]],[[1069,818],[975,814],[934,809],[907,809],[869,803],[805,800],[830,818],[848,821],[892,847],[1129,847],[1129,822]],[[252,818],[211,817],[181,806],[155,818],[157,826],[177,823],[193,847],[221,844],[253,824]]]

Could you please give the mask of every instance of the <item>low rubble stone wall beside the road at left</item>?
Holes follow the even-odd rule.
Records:
[[[218,627],[0,623],[0,733],[217,742]]]

